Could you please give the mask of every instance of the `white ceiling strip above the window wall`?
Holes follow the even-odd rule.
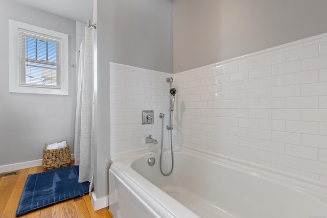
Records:
[[[22,5],[86,23],[92,21],[93,0],[13,0]]]

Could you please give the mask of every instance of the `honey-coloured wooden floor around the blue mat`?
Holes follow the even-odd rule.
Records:
[[[42,166],[20,169],[17,175],[0,178],[0,217],[16,217],[16,210],[22,189],[29,174],[44,172]],[[78,197],[62,203],[58,203],[34,212],[21,215],[19,217],[39,217],[39,218],[82,218],[82,217],[110,217],[108,207],[94,211],[89,195]]]

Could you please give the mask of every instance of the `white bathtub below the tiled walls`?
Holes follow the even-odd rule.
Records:
[[[147,160],[154,157],[150,166]],[[160,174],[159,153],[113,161],[109,210],[120,217],[327,217],[327,190],[254,167],[180,149],[171,176]],[[164,162],[170,163],[165,153]],[[169,172],[170,165],[164,168]],[[317,183],[319,184],[319,183]]]

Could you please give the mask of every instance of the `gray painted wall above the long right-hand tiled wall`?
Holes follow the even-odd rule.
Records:
[[[174,73],[327,32],[324,0],[174,0]]]

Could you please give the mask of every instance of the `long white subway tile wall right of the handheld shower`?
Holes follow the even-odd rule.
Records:
[[[175,74],[175,143],[327,181],[326,82],[327,34]]]

